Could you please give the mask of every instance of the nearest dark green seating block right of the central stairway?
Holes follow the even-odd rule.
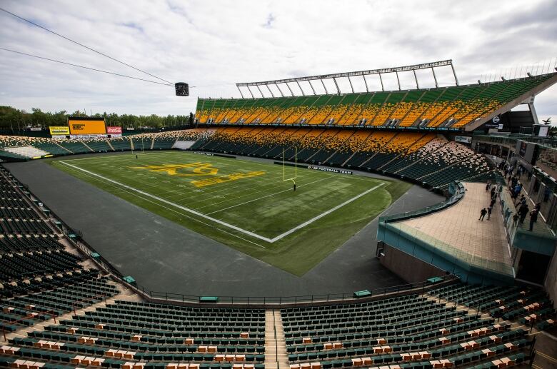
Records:
[[[430,295],[281,315],[292,369],[502,368],[528,360],[526,328]]]

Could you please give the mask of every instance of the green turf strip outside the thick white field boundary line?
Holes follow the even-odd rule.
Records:
[[[160,153],[160,151],[158,153]],[[189,154],[190,157],[195,155],[191,151],[189,151]],[[150,154],[146,153],[144,155]],[[239,159],[244,158],[239,157]],[[246,159],[249,161],[249,158]],[[73,161],[72,158],[68,157],[61,158],[61,160],[67,160],[69,162]],[[361,214],[357,218],[354,217],[354,214],[358,213],[359,200],[363,200],[368,196],[371,197],[370,195],[372,194],[373,196],[377,196],[377,193],[375,193],[376,191],[373,191],[373,193],[368,193],[366,196],[358,199],[358,201],[354,201],[354,203],[347,204],[343,208],[338,209],[334,212],[334,216],[323,217],[306,228],[302,228],[280,241],[269,244],[272,248],[261,248],[256,246],[254,243],[261,245],[264,241],[257,240],[255,238],[250,240],[249,236],[231,229],[223,230],[221,228],[215,228],[214,225],[207,223],[209,221],[204,219],[200,221],[199,219],[196,219],[195,216],[176,211],[176,209],[173,209],[168,204],[156,201],[156,199],[146,199],[139,196],[137,193],[132,193],[131,191],[123,192],[122,188],[114,183],[107,185],[107,183],[101,181],[101,178],[91,178],[91,176],[86,175],[86,173],[81,171],[76,172],[76,169],[70,168],[61,163],[56,163],[57,161],[59,160],[51,159],[49,160],[49,163],[53,164],[56,168],[66,171],[66,173],[70,173],[72,176],[76,176],[81,180],[94,184],[94,186],[102,188],[105,191],[114,193],[116,196],[119,196],[130,203],[146,208],[153,213],[164,216],[165,218],[179,223],[182,226],[186,226],[186,228],[204,234],[205,236],[231,246],[232,248],[246,253],[247,255],[259,258],[261,261],[265,261],[266,263],[281,268],[284,271],[288,271],[296,276],[302,276],[304,273],[311,270],[311,268],[320,263],[323,258],[326,258],[326,256],[351,238],[353,234],[360,231],[363,226],[366,226],[366,224],[373,220],[373,218],[376,218],[381,211],[390,206],[393,201],[396,201],[399,196],[411,187],[411,184],[406,182],[381,178],[380,181],[388,183],[386,186],[381,188],[381,190],[386,191],[388,196],[390,196],[390,199],[388,199],[388,203],[386,203],[385,206],[372,206],[369,213]],[[258,160],[258,162],[272,166],[269,161]],[[76,161],[74,164],[79,166],[79,161]],[[341,175],[338,174],[338,176]],[[369,178],[370,176],[366,177]],[[141,190],[141,188],[138,189]]]

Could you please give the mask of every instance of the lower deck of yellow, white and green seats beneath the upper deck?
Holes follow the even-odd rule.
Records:
[[[336,128],[217,128],[196,141],[194,150],[323,163],[391,173],[445,188],[456,179],[487,181],[491,163],[434,133],[361,131]]]

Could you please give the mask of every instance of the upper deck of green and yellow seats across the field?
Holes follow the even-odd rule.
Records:
[[[551,76],[414,91],[199,98],[196,117],[200,123],[461,128],[488,116]]]

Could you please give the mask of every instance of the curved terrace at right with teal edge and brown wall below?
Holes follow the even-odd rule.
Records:
[[[451,197],[443,203],[380,217],[381,263],[408,281],[453,273],[467,283],[513,283],[501,213],[494,210],[489,221],[477,218],[488,201],[484,188],[483,183],[452,183]]]

